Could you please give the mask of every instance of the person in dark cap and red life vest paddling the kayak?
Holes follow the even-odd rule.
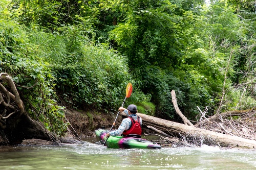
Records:
[[[117,130],[107,133],[106,137],[120,135],[140,137],[142,119],[137,116],[137,106],[132,104],[129,105],[127,109],[120,107],[118,110],[124,112],[128,117],[122,120],[122,123]]]

